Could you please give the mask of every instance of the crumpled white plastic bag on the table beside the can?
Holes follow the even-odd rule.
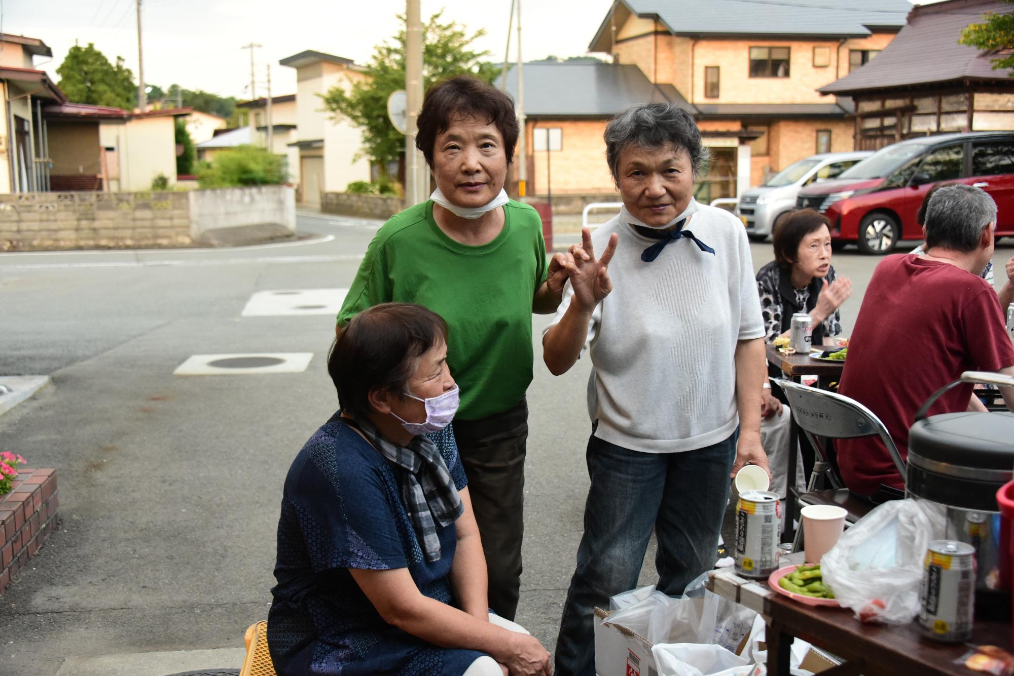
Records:
[[[930,541],[944,536],[943,509],[892,500],[847,529],[820,560],[824,583],[864,622],[907,624],[919,612],[919,583]]]

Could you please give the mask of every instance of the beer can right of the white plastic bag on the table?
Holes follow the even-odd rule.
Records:
[[[934,641],[963,643],[971,638],[975,599],[975,547],[967,542],[930,542],[919,588],[919,624]]]

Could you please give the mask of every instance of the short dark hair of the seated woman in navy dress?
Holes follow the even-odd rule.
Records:
[[[381,303],[339,330],[328,355],[328,372],[342,411],[365,418],[374,390],[403,394],[419,357],[447,341],[447,323],[432,310],[411,303]]]

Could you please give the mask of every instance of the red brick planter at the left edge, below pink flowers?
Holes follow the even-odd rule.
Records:
[[[56,470],[19,468],[0,496],[0,594],[57,527]]]

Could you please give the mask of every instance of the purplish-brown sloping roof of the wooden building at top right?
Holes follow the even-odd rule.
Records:
[[[951,0],[916,7],[890,45],[875,59],[818,91],[842,94],[866,89],[906,87],[948,80],[1006,80],[1008,70],[993,70],[995,55],[959,45],[961,29],[991,11],[1011,6],[993,0]]]

